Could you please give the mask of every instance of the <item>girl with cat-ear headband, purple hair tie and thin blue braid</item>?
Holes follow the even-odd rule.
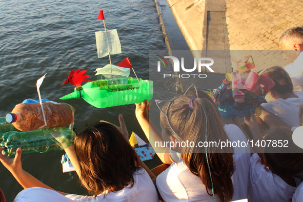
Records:
[[[164,100],[157,100],[160,103]],[[160,109],[161,132],[149,122],[149,105],[136,104],[136,117],[163,163],[171,164],[156,178],[165,201],[231,201],[247,198],[250,148],[198,146],[199,143],[247,139],[235,125],[223,127],[212,99],[195,90],[166,100]],[[176,147],[159,147],[166,142]],[[189,142],[191,146],[179,146]],[[197,147],[196,147],[197,146]],[[247,153],[239,153],[247,152]]]

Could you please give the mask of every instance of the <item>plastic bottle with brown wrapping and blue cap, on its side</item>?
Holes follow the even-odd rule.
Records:
[[[43,102],[45,126],[42,108],[39,103],[21,103],[15,106],[12,113],[6,115],[6,121],[21,131],[32,131],[42,128],[64,127],[74,122],[75,108],[66,103]]]

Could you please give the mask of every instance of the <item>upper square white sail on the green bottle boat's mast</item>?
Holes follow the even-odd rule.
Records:
[[[107,37],[106,37],[106,33],[107,33]],[[108,43],[107,43],[107,38],[108,38]],[[108,30],[107,32],[105,31],[96,32],[96,44],[97,44],[98,58],[107,56],[109,52],[111,55],[121,53],[121,44],[116,29]]]

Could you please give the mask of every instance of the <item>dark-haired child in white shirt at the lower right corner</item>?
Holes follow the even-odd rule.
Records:
[[[288,127],[272,128],[263,142],[272,144],[265,147],[264,155],[251,156],[249,201],[294,201],[299,198],[293,194],[303,177],[303,150],[293,143]],[[284,145],[280,146],[281,143]]]

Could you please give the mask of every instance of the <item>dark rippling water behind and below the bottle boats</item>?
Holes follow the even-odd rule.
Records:
[[[59,97],[73,92],[70,84],[60,86],[71,70],[83,68],[94,79],[95,69],[109,63],[108,57],[98,58],[96,52],[94,32],[104,30],[103,22],[97,19],[100,9],[104,10],[107,29],[117,29],[122,45],[123,53],[112,55],[112,63],[129,57],[137,76],[149,78],[149,50],[166,49],[153,0],[0,0],[0,117],[26,98],[37,99],[36,80],[45,73],[42,98],[62,102]],[[144,137],[134,105],[97,109],[83,99],[64,102],[75,107],[79,130],[98,120],[118,124],[118,114],[122,113],[129,133]],[[64,151],[24,155],[23,168],[56,190],[85,194],[75,173],[62,173],[62,154]],[[159,164],[157,157],[147,161],[150,168]],[[3,165],[0,173],[0,188],[7,201],[12,201],[23,188]]]

